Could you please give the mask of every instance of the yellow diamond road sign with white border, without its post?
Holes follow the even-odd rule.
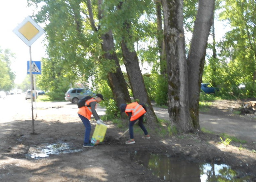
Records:
[[[28,16],[13,32],[30,47],[44,33],[44,30]]]

